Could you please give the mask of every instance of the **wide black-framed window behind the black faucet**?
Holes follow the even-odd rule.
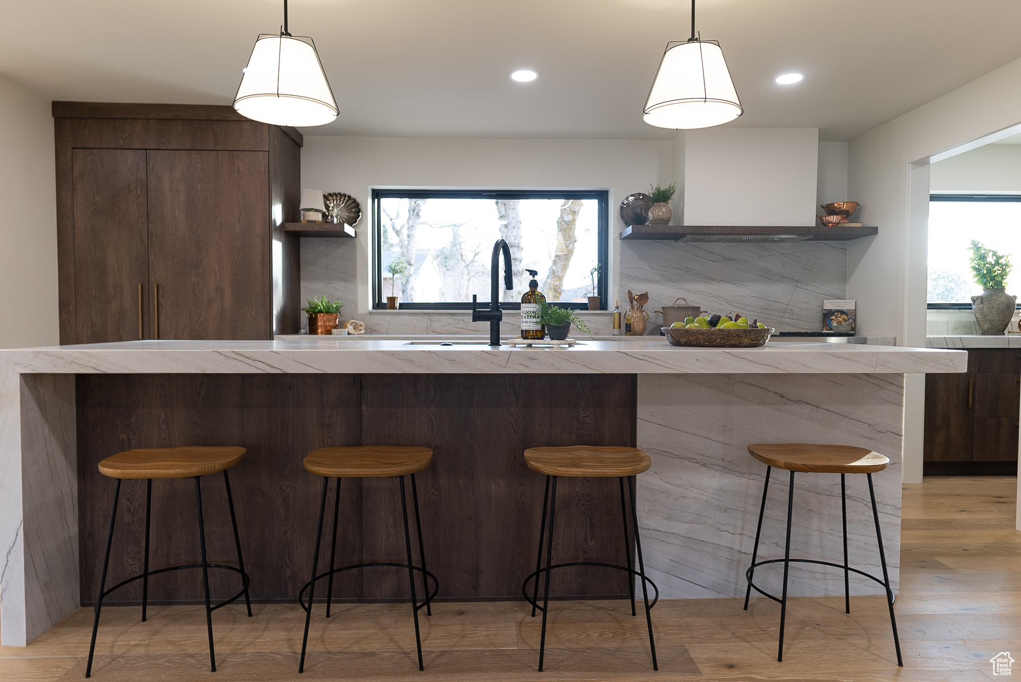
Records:
[[[514,286],[504,309],[519,309],[526,270],[538,271],[550,303],[606,307],[609,196],[594,191],[374,190],[374,308],[396,296],[401,309],[465,309],[489,303],[493,244],[510,246]]]

